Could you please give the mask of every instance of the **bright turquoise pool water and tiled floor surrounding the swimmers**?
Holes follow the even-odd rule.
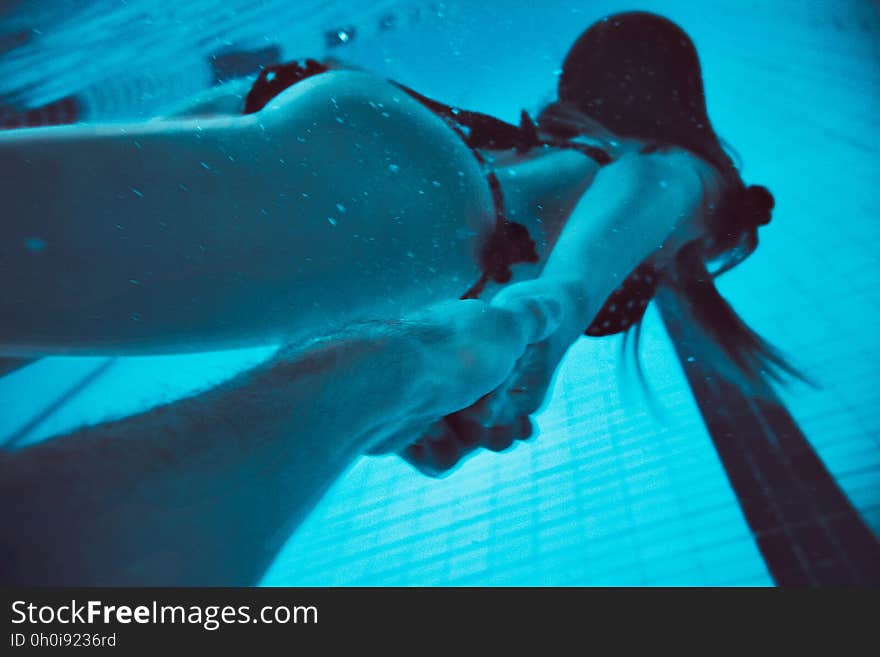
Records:
[[[77,95],[96,119],[149,117],[207,88],[211,53],[276,45],[286,59],[332,54],[515,121],[550,100],[588,24],[636,5],[691,34],[717,130],[745,179],[776,196],[761,247],[720,288],[820,384],[778,394],[880,532],[873,2],[7,0],[0,100],[23,111]],[[581,339],[537,418],[540,435],[507,453],[440,480],[393,457],[361,459],[263,583],[773,584],[656,309],[641,346],[653,403],[619,352],[618,338]],[[26,445],[135,412],[267,353],[43,359],[0,379],[0,437]]]

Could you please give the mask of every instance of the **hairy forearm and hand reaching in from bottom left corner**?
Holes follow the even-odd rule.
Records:
[[[558,308],[455,301],[0,458],[6,585],[248,585],[362,453],[473,403]],[[406,433],[406,432],[404,432]]]

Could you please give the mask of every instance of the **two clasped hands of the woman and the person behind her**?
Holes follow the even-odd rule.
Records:
[[[424,404],[368,453],[396,452],[436,477],[481,447],[499,452],[529,438],[529,416],[582,333],[578,288],[535,279],[489,303],[451,301],[414,317],[426,362]]]

